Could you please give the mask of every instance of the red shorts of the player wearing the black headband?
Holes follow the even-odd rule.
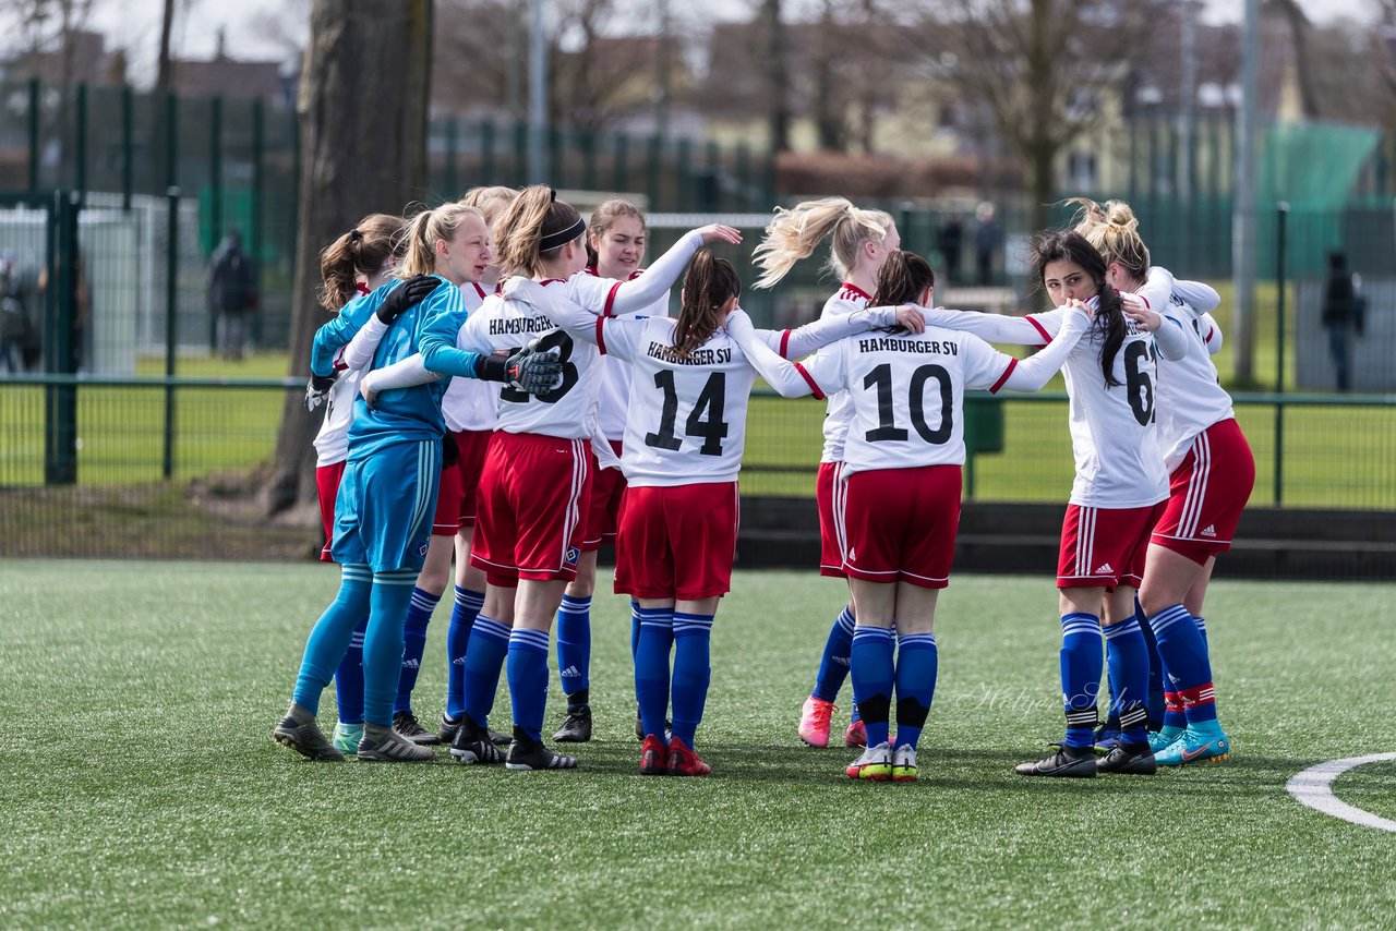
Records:
[[[497,431],[476,501],[470,565],[496,588],[577,578],[592,493],[586,440]]]

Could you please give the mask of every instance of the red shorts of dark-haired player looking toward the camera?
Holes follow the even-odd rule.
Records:
[[[1163,501],[1142,508],[1067,505],[1057,556],[1057,588],[1139,588],[1149,532]]]

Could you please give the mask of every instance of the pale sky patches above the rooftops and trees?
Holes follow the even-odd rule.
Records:
[[[392,0],[384,0],[392,1]],[[1238,21],[1244,0],[1205,0],[1206,21]],[[285,60],[295,43],[303,42],[311,0],[176,0],[179,10],[173,49],[177,57],[212,57],[218,33],[225,32],[226,50],[235,59]],[[737,18],[750,0],[709,0],[708,8]],[[1318,22],[1337,17],[1374,21],[1374,0],[1300,0]],[[159,49],[162,0],[95,0],[91,28],[107,35],[113,47],[128,50],[137,84],[154,78]],[[6,24],[7,25],[7,24]]]

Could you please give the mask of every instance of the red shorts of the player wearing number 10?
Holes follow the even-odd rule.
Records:
[[[930,589],[949,585],[959,529],[958,465],[859,472],[845,484],[849,578]]]

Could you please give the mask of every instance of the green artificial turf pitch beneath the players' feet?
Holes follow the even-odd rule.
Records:
[[[581,769],[444,751],[304,764],[269,731],[335,585],[321,565],[0,564],[0,925],[1376,928],[1396,914],[1393,836],[1284,791],[1315,762],[1396,750],[1393,585],[1219,582],[1208,618],[1233,759],[1065,784],[1011,772],[1060,736],[1050,579],[956,578],[909,786],[849,783],[847,751],[794,737],[843,595],[808,572],[734,579],[698,731],[708,780],[635,775],[628,617],[610,596]],[[445,617],[423,717],[440,713]],[[550,723],[557,699],[554,684]],[[1336,790],[1396,815],[1393,764]]]

